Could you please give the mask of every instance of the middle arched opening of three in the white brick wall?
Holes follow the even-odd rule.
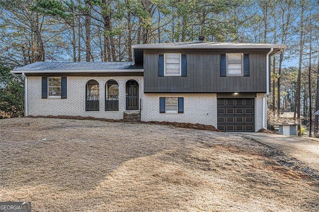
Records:
[[[105,110],[119,110],[119,84],[115,80],[109,80],[105,84]]]

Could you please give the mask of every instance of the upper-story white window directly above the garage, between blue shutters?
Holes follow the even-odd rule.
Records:
[[[227,53],[227,76],[243,76],[243,54]]]

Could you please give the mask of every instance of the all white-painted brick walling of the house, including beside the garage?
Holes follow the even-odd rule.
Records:
[[[28,115],[81,115],[122,119],[123,111],[126,110],[126,82],[132,79],[139,83],[143,121],[189,122],[217,127],[216,94],[144,94],[143,77],[67,77],[67,99],[41,99],[41,77],[28,77],[27,79]],[[85,111],[86,83],[91,79],[96,80],[100,85],[100,111]],[[105,84],[111,79],[116,80],[119,84],[119,111],[105,111]],[[184,113],[160,113],[160,97],[184,98]],[[256,131],[262,128],[263,97],[264,94],[258,93],[255,99]],[[267,126],[267,116],[265,126]]]

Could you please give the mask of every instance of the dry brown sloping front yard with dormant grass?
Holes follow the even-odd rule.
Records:
[[[319,171],[240,135],[0,119],[0,201],[33,211],[319,211]]]

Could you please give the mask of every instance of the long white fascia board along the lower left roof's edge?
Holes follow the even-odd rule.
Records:
[[[63,73],[143,73],[144,69],[105,69],[105,70],[12,70],[13,74],[63,74]]]

